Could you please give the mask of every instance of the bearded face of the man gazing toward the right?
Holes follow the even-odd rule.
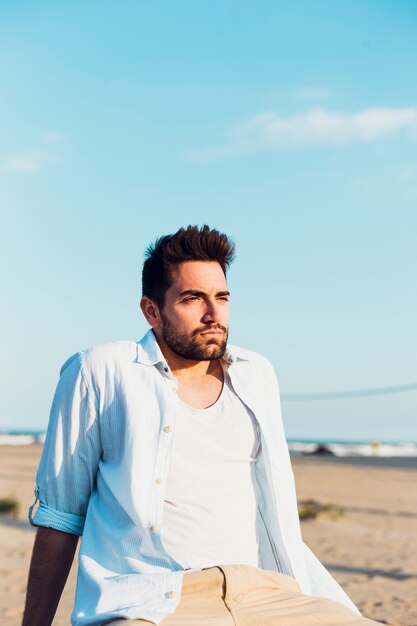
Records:
[[[173,268],[165,294],[160,333],[177,355],[214,361],[226,350],[229,292],[216,261],[185,261]]]

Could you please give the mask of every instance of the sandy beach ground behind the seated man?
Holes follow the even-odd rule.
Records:
[[[0,623],[20,624],[35,531],[27,523],[40,445],[0,446],[0,497],[21,502],[18,519],[2,514]],[[360,610],[391,626],[417,626],[417,467],[295,457],[298,499],[342,508],[302,522],[304,540]],[[399,466],[398,466],[399,465]],[[68,626],[74,566],[55,626]]]

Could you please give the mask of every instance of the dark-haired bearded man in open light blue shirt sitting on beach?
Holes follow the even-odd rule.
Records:
[[[227,346],[233,254],[208,226],[160,238],[151,330],[64,364],[24,626],[51,624],[79,535],[73,626],[374,623],[302,543],[274,372]]]

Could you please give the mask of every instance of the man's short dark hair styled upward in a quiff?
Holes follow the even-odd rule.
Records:
[[[180,228],[173,235],[159,237],[145,252],[142,272],[142,295],[162,309],[165,293],[172,284],[172,270],[185,261],[217,261],[224,275],[232,263],[235,245],[218,230],[207,225]]]

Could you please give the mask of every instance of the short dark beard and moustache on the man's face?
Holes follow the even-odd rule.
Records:
[[[207,324],[202,328],[196,328],[191,335],[179,332],[161,311],[163,322],[162,337],[168,348],[183,359],[191,361],[216,361],[220,359],[227,345],[228,330],[221,324]],[[217,337],[199,336],[205,330],[222,330],[224,335]]]

